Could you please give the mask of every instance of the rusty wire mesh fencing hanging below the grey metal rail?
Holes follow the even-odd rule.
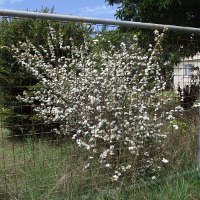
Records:
[[[198,34],[0,27],[0,198],[139,199],[136,188],[197,165]]]

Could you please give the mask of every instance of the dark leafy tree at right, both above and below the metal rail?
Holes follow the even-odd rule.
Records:
[[[105,0],[109,5],[119,5],[116,18],[121,20],[200,27],[200,2],[198,0]],[[121,28],[122,31],[140,32],[143,45],[153,40],[152,33],[136,28]],[[199,35],[168,31],[165,34],[163,59],[177,64],[183,57],[199,51]],[[163,70],[169,87],[173,79],[173,65]],[[171,84],[172,85],[172,84]],[[168,88],[169,88],[168,87]]]

